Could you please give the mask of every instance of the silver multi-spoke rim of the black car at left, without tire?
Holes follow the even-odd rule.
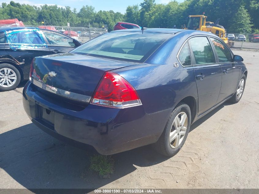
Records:
[[[17,80],[16,73],[10,68],[0,69],[0,86],[11,87]]]

